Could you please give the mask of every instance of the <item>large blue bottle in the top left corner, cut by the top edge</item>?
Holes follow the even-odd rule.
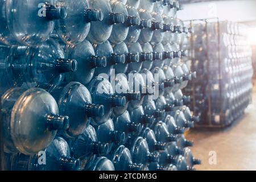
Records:
[[[1,0],[0,43],[39,46],[51,35],[55,20],[67,17],[67,6],[35,0]]]

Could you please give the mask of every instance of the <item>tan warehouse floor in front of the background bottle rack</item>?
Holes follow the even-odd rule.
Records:
[[[193,130],[187,139],[194,141],[193,155],[202,160],[197,170],[256,170],[256,88],[253,104],[240,121],[228,129]],[[211,151],[217,154],[217,164],[209,164]]]

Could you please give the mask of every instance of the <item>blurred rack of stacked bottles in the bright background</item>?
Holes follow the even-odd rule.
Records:
[[[251,102],[253,67],[247,28],[216,19],[193,20],[187,40],[191,69],[199,77],[185,93],[191,94],[199,126],[225,127],[241,118]]]

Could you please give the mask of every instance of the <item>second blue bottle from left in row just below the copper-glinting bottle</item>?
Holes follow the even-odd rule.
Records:
[[[74,158],[80,159],[81,170],[93,168],[96,155],[108,155],[109,144],[98,142],[97,133],[93,126],[89,125],[83,134],[74,139],[69,139],[69,147]]]

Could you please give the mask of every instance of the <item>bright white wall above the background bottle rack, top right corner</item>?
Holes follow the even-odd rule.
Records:
[[[184,20],[219,17],[221,20],[247,22],[256,20],[255,7],[255,0],[192,3],[184,5],[184,10],[179,11],[178,17]]]

